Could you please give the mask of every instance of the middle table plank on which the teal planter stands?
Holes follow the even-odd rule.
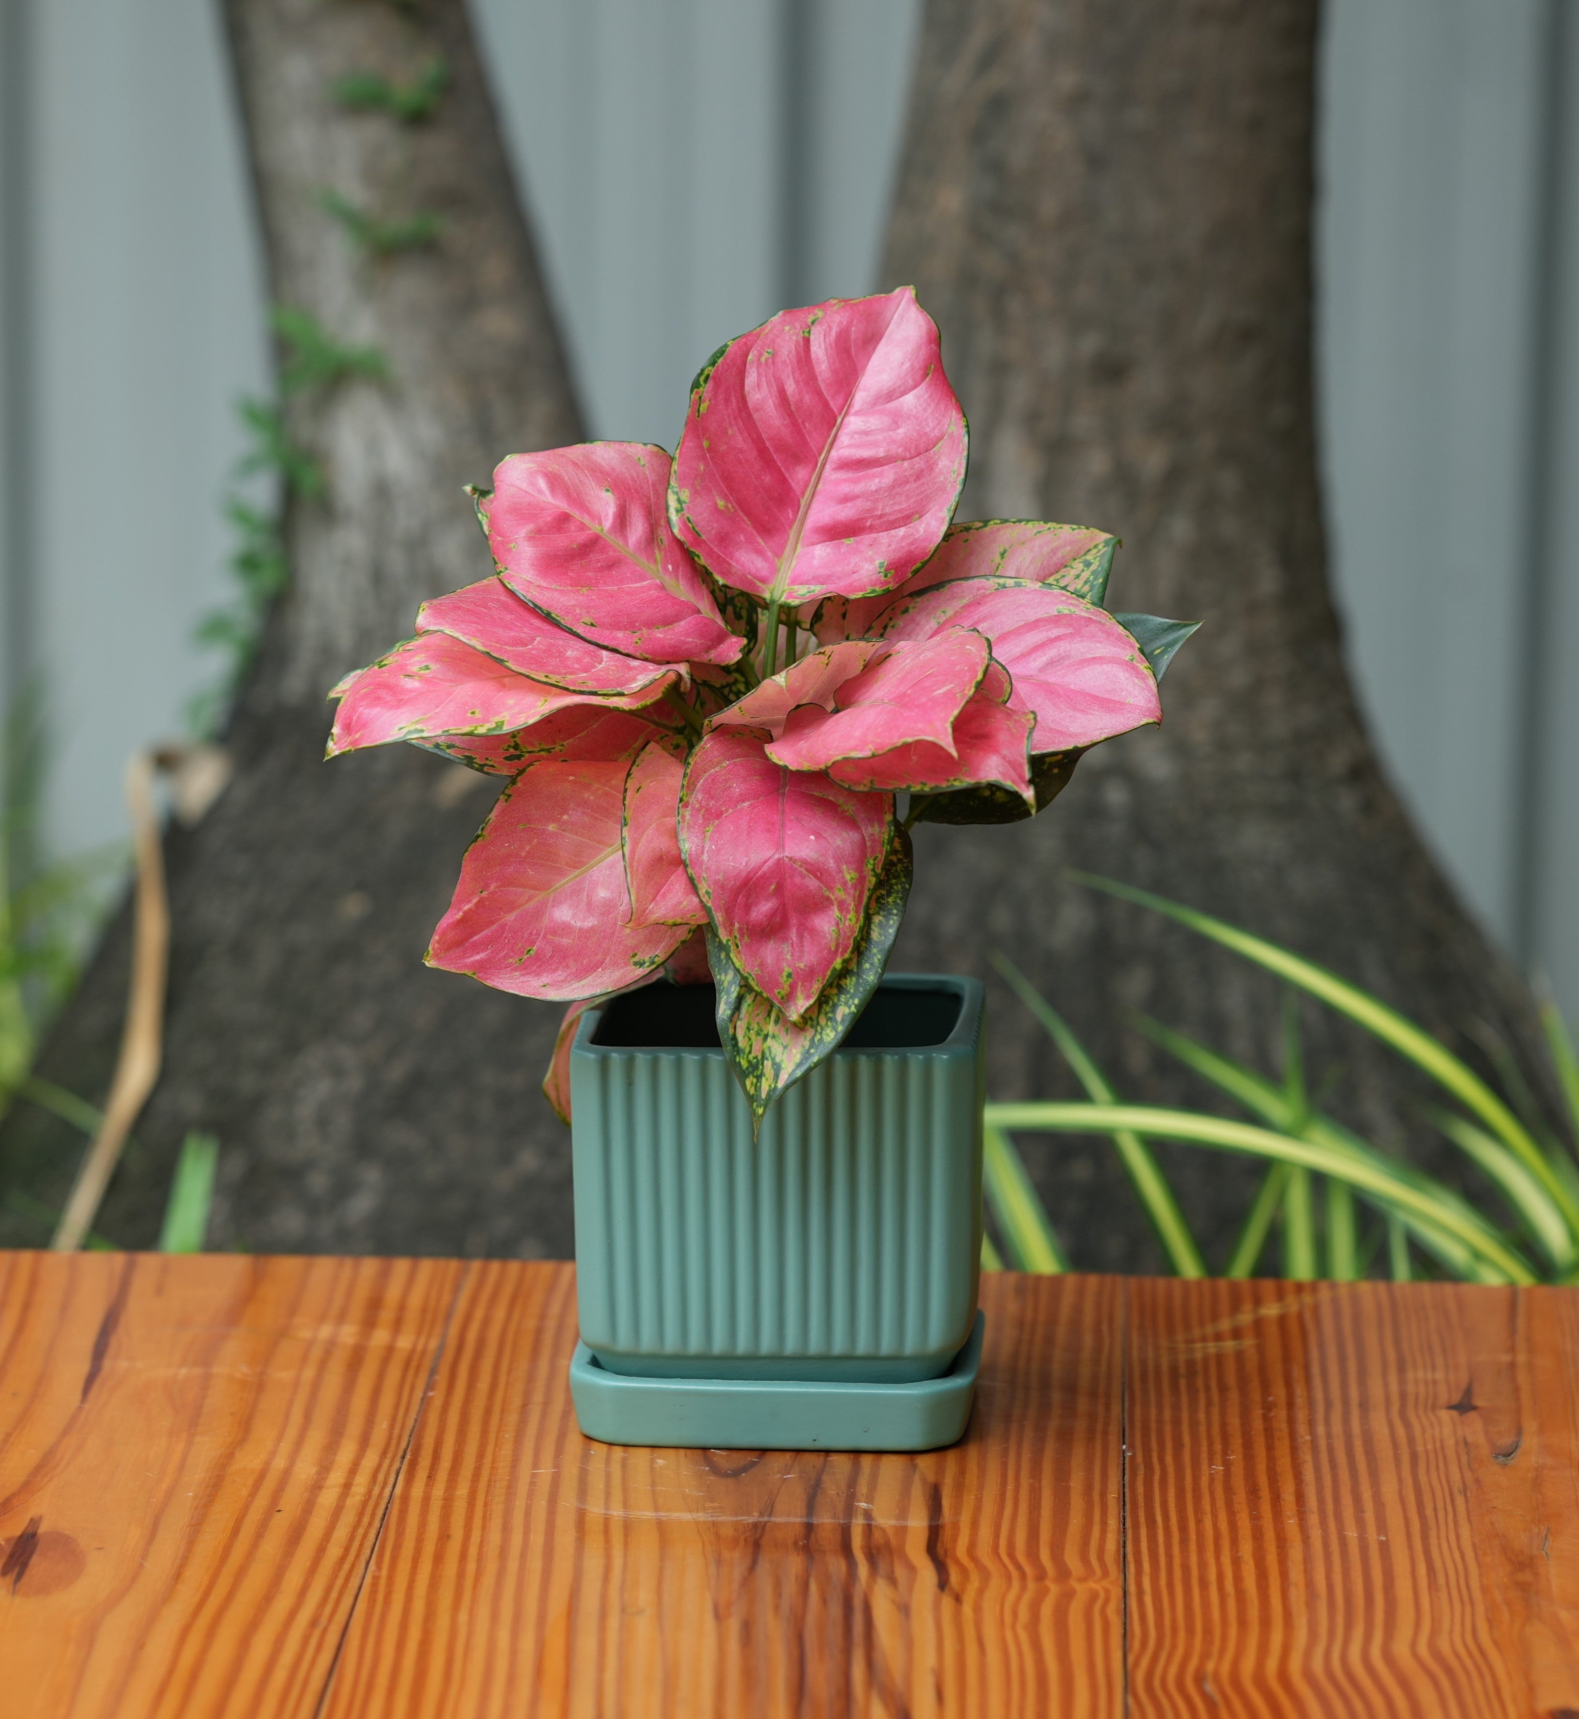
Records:
[[[570,1267],[472,1267],[326,1719],[1119,1712],[1122,1298],[988,1277],[952,1451],[646,1451],[576,1430]]]

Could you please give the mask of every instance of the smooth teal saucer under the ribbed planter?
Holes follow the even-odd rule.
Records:
[[[981,1332],[938,1379],[825,1384],[782,1379],[641,1379],[605,1372],[584,1343],[570,1356],[570,1399],[588,1439],[698,1451],[935,1451],[971,1418]]]

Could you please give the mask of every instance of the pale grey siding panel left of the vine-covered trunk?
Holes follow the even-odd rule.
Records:
[[[70,853],[125,834],[125,749],[180,734],[223,669],[192,634],[232,596],[234,406],[268,366],[220,9],[31,0],[26,26],[34,481],[12,572],[50,708],[46,839]],[[117,523],[113,574],[81,528],[84,473]]]

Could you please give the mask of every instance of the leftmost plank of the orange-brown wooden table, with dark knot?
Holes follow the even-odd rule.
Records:
[[[7,1719],[316,1712],[460,1272],[0,1253]]]

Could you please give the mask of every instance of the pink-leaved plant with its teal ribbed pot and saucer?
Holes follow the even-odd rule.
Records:
[[[783,311],[703,366],[674,459],[505,459],[495,574],[333,691],[330,755],[509,779],[428,961],[570,1004],[545,1090],[598,1437],[964,1427],[981,988],[883,978],[909,829],[1039,811],[1160,720],[1191,631],[1103,607],[1107,533],[952,524],[964,476],[911,289]]]

